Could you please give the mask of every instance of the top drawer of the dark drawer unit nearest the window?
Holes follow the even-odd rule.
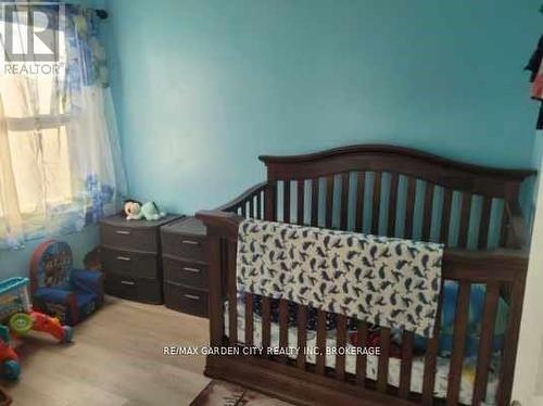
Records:
[[[156,229],[138,229],[123,226],[100,226],[102,245],[118,249],[159,252],[159,233]]]

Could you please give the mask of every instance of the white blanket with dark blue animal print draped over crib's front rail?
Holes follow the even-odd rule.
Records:
[[[431,338],[442,256],[437,243],[245,219],[237,289]]]

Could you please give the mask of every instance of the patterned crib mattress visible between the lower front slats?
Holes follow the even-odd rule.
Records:
[[[244,342],[245,334],[245,306],[241,299],[238,300],[238,341]],[[228,302],[225,302],[225,332],[228,335]],[[253,314],[253,345],[262,346],[262,318]],[[272,322],[270,327],[270,335],[272,335],[272,347],[279,347],[279,325],[277,322]],[[295,346],[298,342],[298,328],[289,327],[289,346]],[[326,340],[327,347],[336,346],[336,330],[330,330],[327,333]],[[307,331],[307,342],[306,348],[310,351],[306,354],[306,360],[310,364],[316,363],[316,355],[314,351],[311,348],[315,348],[317,346],[317,334],[315,331]],[[352,351],[350,351],[352,350]],[[355,373],[356,371],[356,355],[354,354],[354,347],[348,343],[346,345],[346,355],[345,355],[345,371],[349,373]],[[289,357],[295,358],[296,355],[294,353],[289,354]],[[366,361],[366,378],[370,380],[377,380],[377,370],[378,370],[378,359],[379,357],[376,355],[367,355]],[[333,368],[336,365],[336,356],[333,354],[326,356],[326,366]],[[476,370],[477,359],[465,359],[464,369],[462,373],[460,381],[460,393],[459,393],[459,402],[465,405],[471,404],[471,397],[473,393],[473,383],[475,383],[475,370]],[[495,363],[492,361],[491,365],[495,366]],[[450,369],[450,359],[446,357],[438,357],[437,367],[435,367],[435,385],[433,389],[433,394],[435,397],[445,398],[447,382],[449,382],[449,369]],[[400,370],[401,370],[401,359],[390,357],[389,360],[389,384],[393,386],[400,386]],[[412,381],[411,381],[411,391],[415,393],[422,393],[422,381],[424,381],[424,370],[425,370],[425,359],[421,356],[413,357],[413,366],[412,366]],[[494,405],[495,404],[495,394],[497,390],[498,377],[496,373],[496,368],[491,368],[489,372],[489,383],[487,386],[487,403],[483,405]]]

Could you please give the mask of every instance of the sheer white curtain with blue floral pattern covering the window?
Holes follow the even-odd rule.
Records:
[[[89,10],[62,8],[58,61],[0,66],[0,248],[79,231],[115,212],[125,194],[94,18]],[[12,47],[24,52],[25,12],[0,24],[2,33],[11,25]]]

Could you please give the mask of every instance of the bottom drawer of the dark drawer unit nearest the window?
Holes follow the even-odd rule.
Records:
[[[159,281],[105,275],[105,292],[132,301],[162,304],[162,286]]]

